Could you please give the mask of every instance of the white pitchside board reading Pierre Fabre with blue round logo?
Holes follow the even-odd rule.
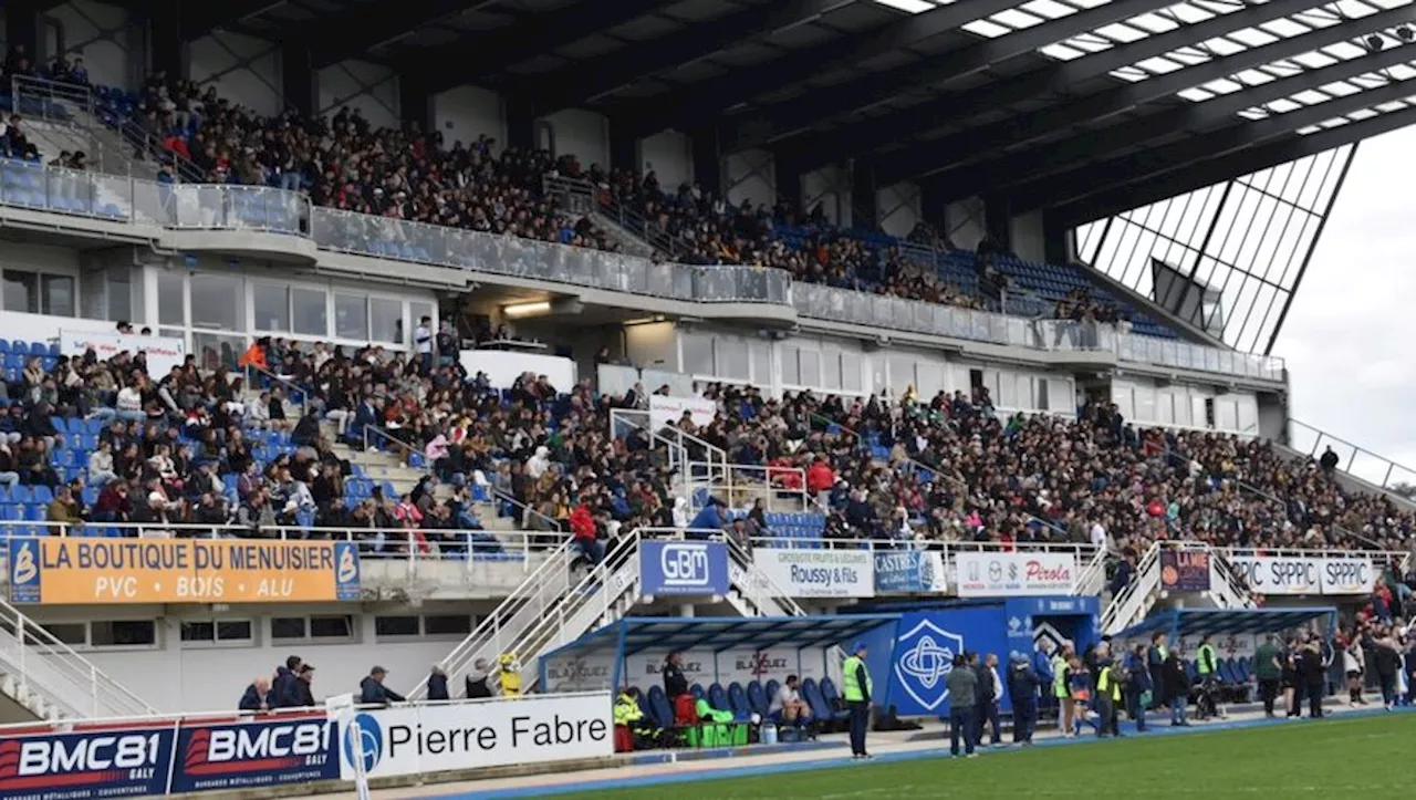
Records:
[[[361,711],[351,725],[362,741],[370,779],[615,755],[609,692],[527,695],[446,705]],[[347,733],[340,777],[354,779]]]

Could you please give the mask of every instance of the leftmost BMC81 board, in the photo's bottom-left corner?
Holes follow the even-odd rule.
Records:
[[[166,794],[173,722],[122,731],[0,736],[0,799]]]

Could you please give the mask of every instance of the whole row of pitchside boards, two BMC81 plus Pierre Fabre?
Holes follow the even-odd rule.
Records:
[[[568,762],[615,753],[609,692],[0,726],[0,800],[96,800]],[[8,765],[8,766],[6,766]]]

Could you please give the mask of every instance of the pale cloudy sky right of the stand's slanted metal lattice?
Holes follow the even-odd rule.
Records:
[[[1416,127],[1364,142],[1274,347],[1294,419],[1416,469]],[[1294,426],[1294,445],[1314,435]],[[1342,452],[1338,446],[1335,450]],[[1364,477],[1385,473],[1368,457]],[[1416,484],[1398,469],[1395,481]]]

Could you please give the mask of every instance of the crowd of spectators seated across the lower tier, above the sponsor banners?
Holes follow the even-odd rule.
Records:
[[[602,544],[637,527],[773,535],[760,503],[741,520],[712,504],[691,513],[649,432],[610,428],[612,409],[649,406],[643,387],[610,398],[589,381],[527,374],[498,391],[450,357],[269,338],[242,361],[283,375],[307,413],[287,409],[280,385],[248,389],[191,357],[157,379],[140,354],[58,357],[52,368],[35,357],[0,384],[0,486],[17,504],[48,503],[41,521],[198,525],[197,535],[314,525],[389,552],[464,547],[462,532],[481,528],[476,498],[493,496],[530,530]],[[1161,538],[1399,551],[1416,541],[1408,508],[1344,490],[1323,463],[1221,433],[1137,429],[1109,405],[1004,416],[984,389],[899,401],[702,394],[716,418],[677,422],[692,447],[760,466],[773,491],[818,503],[828,539],[1092,542],[1119,556]],[[396,494],[351,466],[340,439],[402,453],[429,474]]]

